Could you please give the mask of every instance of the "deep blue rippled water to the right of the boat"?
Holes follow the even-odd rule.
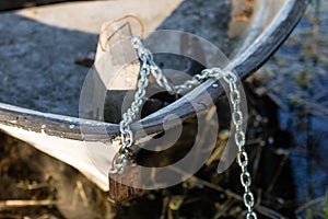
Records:
[[[284,46],[254,77],[261,81],[256,92],[280,106],[280,128],[295,141],[288,152],[300,206],[320,198],[324,206],[328,185],[327,38],[328,2],[312,1]],[[298,216],[305,216],[303,210],[298,209]],[[324,209],[317,214],[324,216]]]

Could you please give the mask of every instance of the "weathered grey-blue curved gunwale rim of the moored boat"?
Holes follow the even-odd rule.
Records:
[[[286,5],[274,18],[274,22],[271,22],[265,32],[257,36],[256,41],[247,47],[248,49],[238,54],[238,57],[226,67],[226,70],[234,69],[241,79],[245,79],[258,70],[288,38],[301,20],[307,3],[308,0],[286,0]],[[211,95],[214,102],[223,94],[222,87],[214,88],[214,83],[218,82],[207,80],[186,96],[132,124],[132,130],[137,132],[138,138],[143,138],[147,135],[162,131],[162,120],[169,114],[175,114],[181,120],[185,120],[194,116],[196,112],[207,110],[210,106],[202,104],[201,94],[203,90]],[[192,104],[188,103],[188,100],[192,100]],[[194,108],[194,106],[197,106],[197,108]],[[168,126],[176,124],[174,119],[165,123]],[[49,136],[73,140],[107,141],[119,135],[117,124],[42,113],[3,103],[0,103],[0,124],[23,128],[28,131],[44,131]],[[83,132],[81,132],[82,126],[84,127]],[[85,127],[87,127],[86,132]],[[98,131],[103,128],[106,128],[107,134]],[[141,129],[142,131],[140,131]]]

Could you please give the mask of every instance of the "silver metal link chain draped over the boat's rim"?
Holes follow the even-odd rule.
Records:
[[[122,114],[122,120],[119,123],[120,129],[120,149],[115,155],[109,174],[122,174],[127,165],[133,165],[133,151],[131,146],[133,145],[133,132],[130,125],[136,119],[140,107],[145,96],[145,89],[149,84],[149,76],[152,74],[156,80],[156,83],[164,88],[169,94],[184,94],[190,91],[196,85],[199,85],[207,79],[223,79],[229,85],[230,95],[229,99],[232,103],[232,122],[235,127],[234,142],[238,147],[237,163],[242,169],[241,183],[244,187],[244,205],[247,207],[247,219],[256,219],[257,215],[254,211],[255,198],[250,191],[251,177],[247,170],[248,154],[245,150],[246,137],[242,126],[244,125],[244,115],[241,110],[241,93],[237,88],[237,77],[233,71],[225,71],[221,68],[204,69],[199,74],[195,74],[190,80],[185,81],[183,84],[173,85],[168,82],[162,70],[156,66],[153,60],[153,55],[147,49],[141,39],[137,36],[131,38],[131,44],[137,50],[138,57],[141,61],[140,78],[138,80],[138,88],[134,94],[134,100],[131,103],[130,108]]]

